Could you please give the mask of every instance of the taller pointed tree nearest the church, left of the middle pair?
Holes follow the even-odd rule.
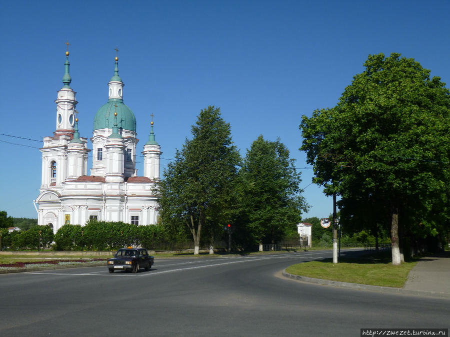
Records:
[[[232,207],[240,156],[219,108],[201,110],[191,133],[168,164],[158,193],[163,224],[187,226],[196,255],[201,230],[213,234]]]

